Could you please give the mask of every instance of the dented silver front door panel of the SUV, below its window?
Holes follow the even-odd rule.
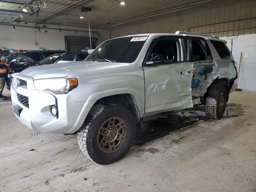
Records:
[[[145,113],[193,107],[190,62],[145,66]]]

